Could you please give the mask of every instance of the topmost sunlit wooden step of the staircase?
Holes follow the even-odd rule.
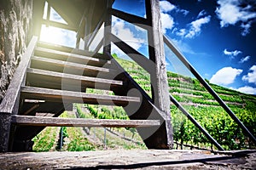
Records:
[[[83,49],[70,48],[70,47],[61,46],[61,45],[57,45],[57,44],[49,43],[49,42],[38,42],[38,47],[54,49],[54,50],[58,50],[58,51],[66,52],[66,53],[71,53],[71,54],[80,54],[80,55],[91,56],[91,57],[94,57],[94,58],[97,58],[97,59],[107,59],[107,60],[110,59],[108,57],[108,55],[95,54],[95,53],[92,53],[90,51],[86,51],[86,50],[83,50]]]

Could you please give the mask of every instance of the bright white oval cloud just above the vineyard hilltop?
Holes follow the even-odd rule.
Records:
[[[218,85],[229,85],[235,81],[236,77],[239,76],[241,72],[241,69],[224,67],[212,76],[210,82]]]

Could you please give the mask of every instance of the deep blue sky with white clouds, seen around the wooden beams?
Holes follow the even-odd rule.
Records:
[[[113,8],[146,17],[144,0],[115,0]],[[256,94],[255,0],[163,0],[160,11],[164,34],[202,77],[226,88]],[[65,23],[53,8],[50,19]],[[112,32],[148,56],[145,30],[113,17]],[[49,26],[42,35],[41,40],[49,37],[50,42],[75,46],[73,31]],[[127,57],[114,45],[112,53]],[[192,76],[168,48],[166,61],[169,71]]]

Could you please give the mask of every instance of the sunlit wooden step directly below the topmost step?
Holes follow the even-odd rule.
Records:
[[[62,61],[79,63],[83,65],[108,66],[111,64],[110,60],[97,59],[97,58],[84,56],[80,54],[71,54],[71,53],[61,52],[61,51],[57,51],[49,48],[36,48],[34,55],[49,58],[49,59],[58,59]]]

